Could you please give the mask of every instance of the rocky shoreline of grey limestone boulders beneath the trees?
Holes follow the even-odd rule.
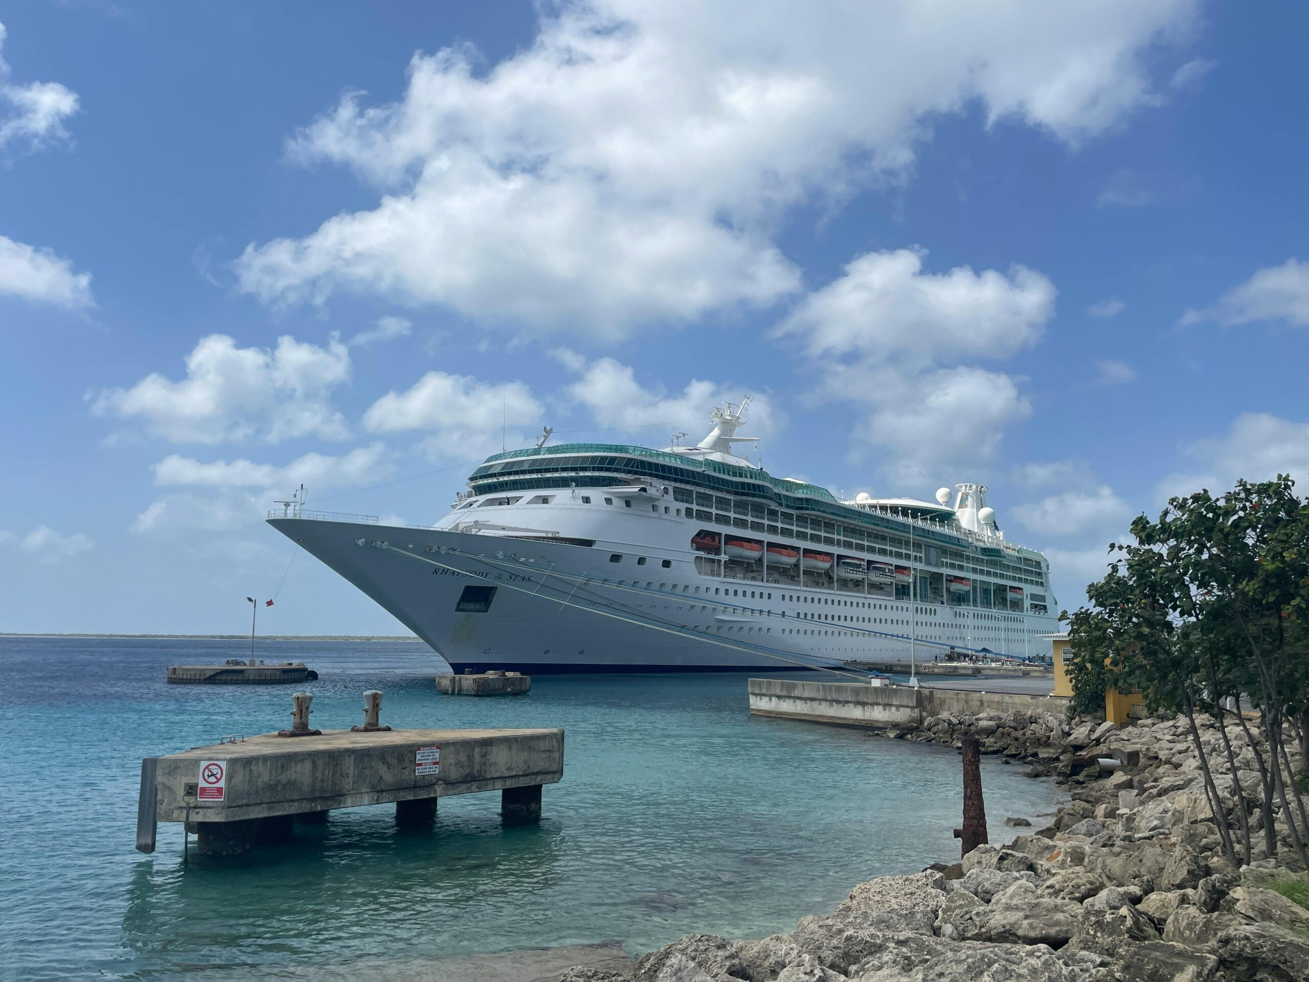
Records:
[[[1198,718],[1207,750],[1217,724]],[[962,862],[859,884],[835,911],[789,935],[687,935],[632,973],[577,966],[560,982],[1305,982],[1309,910],[1270,889],[1299,877],[1295,852],[1237,868],[1223,854],[1185,719],[1126,728],[1052,714],[950,715],[881,736],[958,745],[1054,776],[1072,801],[1052,824]],[[1253,827],[1259,812],[1246,731],[1227,728]],[[1257,729],[1250,736],[1259,740]],[[1230,766],[1210,754],[1224,820]],[[1295,762],[1299,763],[1299,762]],[[1262,855],[1262,854],[1261,854]],[[1288,865],[1289,864],[1289,865]]]

